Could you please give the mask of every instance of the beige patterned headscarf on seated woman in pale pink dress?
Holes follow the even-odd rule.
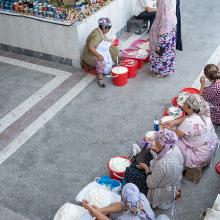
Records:
[[[204,116],[210,117],[210,108],[208,102],[204,100],[204,98],[198,94],[190,94],[186,99],[185,104],[187,104],[190,108],[195,111],[198,111],[198,115],[204,121]]]

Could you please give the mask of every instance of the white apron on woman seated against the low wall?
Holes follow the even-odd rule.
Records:
[[[111,44],[111,42],[103,40],[96,48],[96,51],[104,57],[105,69],[103,74],[105,75],[111,72],[113,66],[112,57],[109,51]]]

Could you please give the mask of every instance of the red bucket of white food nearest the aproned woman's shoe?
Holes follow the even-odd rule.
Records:
[[[128,82],[128,68],[115,66],[112,68],[112,81],[115,86],[125,86]]]

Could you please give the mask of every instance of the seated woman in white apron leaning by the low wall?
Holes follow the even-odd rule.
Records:
[[[111,72],[113,65],[111,54],[114,52],[115,55],[116,53],[114,48],[112,48],[112,41],[106,37],[106,34],[112,27],[110,19],[100,18],[98,25],[99,27],[93,30],[86,40],[82,54],[82,65],[85,63],[90,67],[96,68],[98,85],[103,88],[105,87],[103,75]]]

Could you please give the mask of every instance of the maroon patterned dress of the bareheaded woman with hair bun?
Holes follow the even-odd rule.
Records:
[[[220,82],[213,83],[209,87],[204,88],[202,96],[211,104],[212,123],[220,125]]]

